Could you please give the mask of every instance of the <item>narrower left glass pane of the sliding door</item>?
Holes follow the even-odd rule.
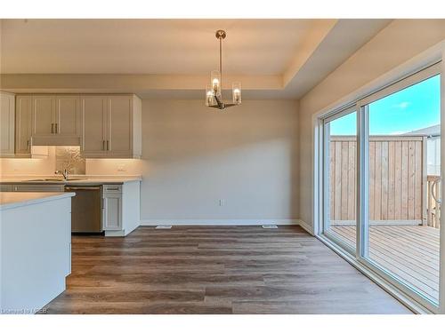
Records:
[[[356,244],[357,113],[325,123],[324,232],[350,250]]]

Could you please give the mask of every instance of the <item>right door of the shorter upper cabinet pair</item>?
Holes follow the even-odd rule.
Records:
[[[56,134],[62,137],[80,137],[80,99],[76,95],[57,96]]]

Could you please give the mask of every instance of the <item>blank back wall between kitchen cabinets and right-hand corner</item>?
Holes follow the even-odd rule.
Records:
[[[295,101],[144,99],[142,220],[298,218],[297,124]]]

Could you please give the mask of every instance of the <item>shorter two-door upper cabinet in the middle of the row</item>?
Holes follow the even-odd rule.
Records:
[[[80,145],[79,101],[78,95],[33,95],[33,145]]]

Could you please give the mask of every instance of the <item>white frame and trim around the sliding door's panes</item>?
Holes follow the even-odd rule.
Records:
[[[445,41],[435,45],[417,59],[413,59],[401,67],[395,68],[389,74],[352,93],[349,97],[328,107],[314,115],[314,232],[331,249],[356,266],[362,273],[376,281],[384,289],[392,293],[417,313],[445,313],[445,227],[441,227],[440,242],[440,295],[439,303],[435,305],[432,300],[410,288],[408,283],[401,281],[397,276],[389,274],[383,267],[370,261],[368,257],[368,104],[376,99],[382,99],[396,91],[401,91],[413,84],[419,83],[431,73],[441,74],[441,123],[445,121]],[[422,79],[422,77],[425,77]],[[349,100],[349,102],[348,102]],[[342,107],[343,106],[343,107]],[[326,120],[342,116],[344,110],[356,107],[357,112],[357,243],[355,253],[344,250],[338,246],[336,240],[324,234],[324,221],[328,202],[325,191],[325,149],[324,124]],[[441,147],[445,147],[445,126],[441,125]],[[441,175],[445,175],[445,154],[441,155]],[[442,198],[445,198],[445,186],[442,187]],[[442,218],[444,221],[445,218]],[[445,226],[441,222],[441,226]]]

